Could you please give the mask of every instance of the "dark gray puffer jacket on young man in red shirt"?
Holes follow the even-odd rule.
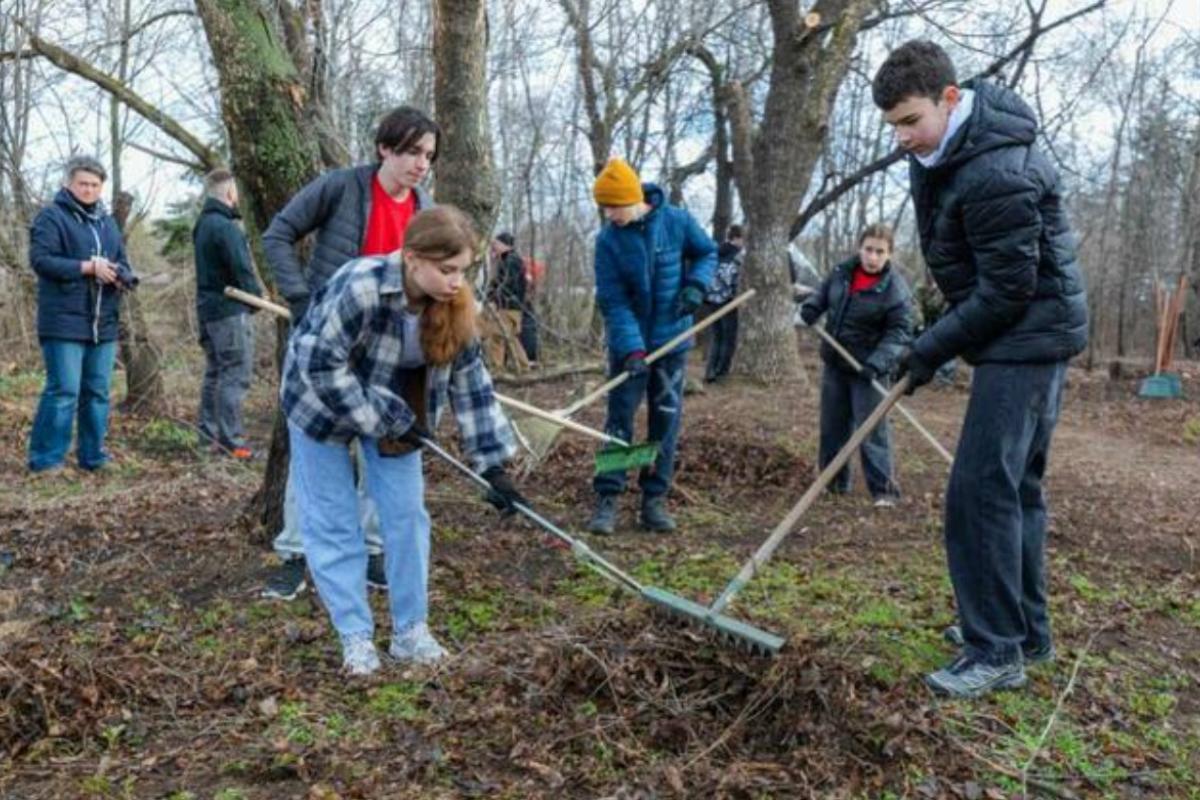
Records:
[[[371,181],[378,169],[378,164],[364,164],[325,173],[271,219],[263,249],[280,294],[293,308],[307,305],[308,295],[325,285],[329,276],[361,255],[371,218]],[[414,191],[418,211],[433,205],[425,190]],[[295,246],[311,233],[317,234],[317,242],[305,275]]]

